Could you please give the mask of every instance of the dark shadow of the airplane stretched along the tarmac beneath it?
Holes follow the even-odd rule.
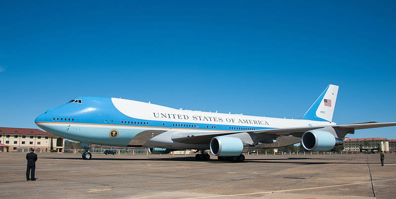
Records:
[[[41,159],[69,159],[69,160],[82,160],[82,158],[78,157],[41,157]],[[296,160],[332,160],[332,158],[277,158],[277,159],[245,159],[244,162],[231,162],[231,161],[220,161],[217,159],[210,160],[196,160],[195,157],[170,157],[170,158],[158,158],[158,157],[148,157],[148,158],[92,158],[91,160],[115,160],[115,161],[199,161],[199,162],[207,162],[212,164],[235,164],[235,163],[249,163],[249,162],[262,162],[262,163],[280,163],[280,164],[306,164],[306,165],[315,165],[315,164],[367,164],[367,162],[304,162],[304,161],[296,161]],[[279,161],[284,160],[284,161]],[[335,159],[333,159],[335,160]],[[87,160],[90,161],[90,160]]]

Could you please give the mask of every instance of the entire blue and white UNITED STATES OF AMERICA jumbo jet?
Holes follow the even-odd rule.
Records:
[[[88,144],[144,147],[150,153],[197,149],[197,159],[244,161],[244,151],[301,142],[308,151],[330,150],[357,129],[396,122],[337,125],[332,121],[338,86],[329,85],[300,119],[174,109],[128,99],[80,97],[47,110],[35,123],[57,136]],[[87,150],[83,159],[91,159]]]

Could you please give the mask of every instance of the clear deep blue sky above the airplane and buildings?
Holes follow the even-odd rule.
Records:
[[[0,126],[78,96],[339,124],[396,121],[395,1],[0,1]],[[396,127],[351,138],[396,139]]]

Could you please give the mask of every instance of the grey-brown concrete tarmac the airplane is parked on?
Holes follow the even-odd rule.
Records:
[[[396,198],[396,154],[247,155],[245,162],[193,155],[0,153],[1,199]]]

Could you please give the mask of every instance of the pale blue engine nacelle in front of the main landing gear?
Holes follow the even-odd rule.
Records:
[[[218,136],[210,141],[210,151],[217,156],[237,156],[243,149],[244,144],[239,138]]]

